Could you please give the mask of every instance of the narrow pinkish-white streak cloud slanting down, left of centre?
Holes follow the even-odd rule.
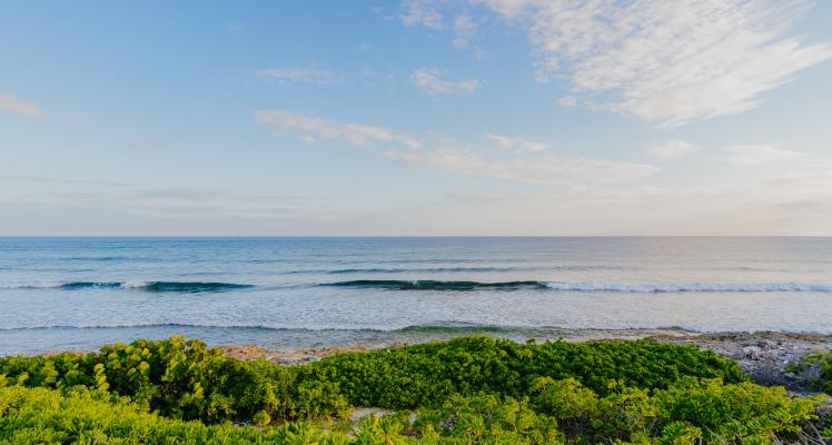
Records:
[[[300,140],[304,142],[314,142],[317,139],[340,139],[360,147],[372,142],[403,144],[409,148],[422,147],[415,138],[382,127],[341,123],[283,110],[256,111],[255,117],[280,132],[300,134]]]

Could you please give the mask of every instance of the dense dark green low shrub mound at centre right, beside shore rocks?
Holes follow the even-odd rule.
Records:
[[[735,362],[713,352],[650,340],[518,344],[464,337],[370,353],[347,353],[310,366],[358,406],[438,406],[455,394],[519,396],[537,377],[573,377],[598,394],[611,383],[666,388],[682,377],[747,380]]]

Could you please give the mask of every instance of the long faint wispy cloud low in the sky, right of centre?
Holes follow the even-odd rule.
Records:
[[[516,158],[489,159],[476,151],[437,149],[433,151],[386,151],[384,156],[410,166],[448,174],[485,176],[521,182],[571,186],[608,184],[637,179],[658,169],[646,164],[597,159]]]

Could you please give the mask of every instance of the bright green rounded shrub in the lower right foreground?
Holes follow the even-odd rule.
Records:
[[[816,419],[818,399],[790,397],[784,388],[747,382],[685,379],[666,389],[618,388],[604,397],[574,379],[539,378],[532,406],[557,421],[569,437],[666,443],[769,443],[798,437]]]

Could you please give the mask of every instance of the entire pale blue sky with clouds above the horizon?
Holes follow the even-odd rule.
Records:
[[[4,1],[2,236],[832,236],[832,2]]]

